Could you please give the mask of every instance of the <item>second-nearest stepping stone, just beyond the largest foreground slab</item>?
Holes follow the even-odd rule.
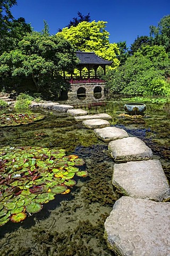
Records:
[[[170,198],[168,181],[159,160],[115,164],[112,184],[125,196],[158,202]]]

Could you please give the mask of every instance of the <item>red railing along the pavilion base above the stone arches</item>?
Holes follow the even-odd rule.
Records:
[[[65,77],[66,81],[69,81],[71,84],[76,84],[76,83],[103,83],[105,82],[103,79],[101,79],[99,76],[91,76],[90,78],[88,76],[66,76]]]

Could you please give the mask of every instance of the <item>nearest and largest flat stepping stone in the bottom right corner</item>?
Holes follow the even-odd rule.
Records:
[[[105,237],[116,255],[170,255],[170,203],[121,197],[105,221]]]

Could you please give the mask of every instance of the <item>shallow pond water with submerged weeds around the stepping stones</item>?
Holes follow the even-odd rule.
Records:
[[[62,103],[71,104],[69,100]],[[111,115],[111,125],[145,141],[170,180],[170,104],[145,102],[146,115],[129,118],[122,115],[124,103],[118,95],[96,101],[72,100],[75,108],[86,109],[89,114]],[[43,210],[23,222],[9,221],[0,227],[1,255],[114,256],[103,237],[104,222],[121,195],[112,187],[114,162],[108,155],[107,143],[65,113],[34,112],[44,114],[45,119],[29,125],[1,127],[0,146],[66,149],[66,154],[84,159],[83,168],[88,176],[77,178],[70,194],[57,195]]]

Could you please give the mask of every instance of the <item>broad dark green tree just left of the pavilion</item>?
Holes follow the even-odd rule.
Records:
[[[0,57],[0,76],[3,79],[29,77],[36,91],[58,92],[64,84],[61,70],[72,72],[77,58],[69,41],[57,36],[32,33],[25,36],[18,48]],[[4,80],[3,80],[4,81]]]

